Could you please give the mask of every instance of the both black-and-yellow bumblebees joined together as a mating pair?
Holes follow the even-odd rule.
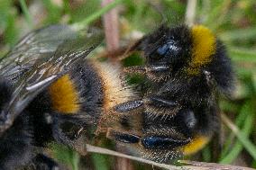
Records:
[[[126,52],[144,66],[86,58],[103,40],[72,26],[32,31],[0,65],[0,169],[58,166],[50,142],[85,154],[105,132],[131,153],[168,162],[203,148],[218,129],[217,94],[230,94],[233,70],[223,44],[204,26],[161,26]],[[122,77],[142,74],[142,92]]]

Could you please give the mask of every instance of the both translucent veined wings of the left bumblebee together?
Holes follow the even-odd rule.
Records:
[[[23,112],[23,109],[37,94],[40,94],[42,90],[58,79],[59,76],[67,73],[69,69],[74,67],[75,63],[83,62],[83,59],[104,39],[101,31],[94,31],[85,35],[77,34],[76,37],[73,37],[71,34],[76,33],[75,31],[70,33],[65,30],[66,27],[69,30],[69,26],[60,26],[62,32],[69,33],[69,36],[65,35],[67,37],[63,38],[57,33],[56,29],[58,27],[50,26],[41,30],[43,33],[40,31],[37,34],[30,33],[29,37],[26,36],[22,40],[23,43],[21,41],[21,45],[18,44],[14,51],[10,52],[3,59],[3,63],[1,62],[2,67],[0,71],[3,70],[5,72],[5,74],[1,74],[6,79],[15,82],[15,90],[12,100],[1,113],[5,115],[3,116],[5,120],[2,120],[2,122],[0,120],[0,134],[13,124],[16,116]],[[57,33],[58,36],[55,39],[51,39],[55,42],[50,41],[50,32],[45,32],[48,29],[50,29],[51,33]],[[51,31],[51,29],[54,31]],[[46,35],[44,37],[45,40],[37,40],[44,33]],[[51,36],[54,36],[54,34]],[[34,42],[32,43],[33,40]],[[24,45],[24,42],[26,45]],[[47,42],[50,42],[52,47]],[[41,47],[37,47],[36,44],[40,44]],[[38,56],[35,57],[33,55]],[[14,63],[12,63],[13,59]]]

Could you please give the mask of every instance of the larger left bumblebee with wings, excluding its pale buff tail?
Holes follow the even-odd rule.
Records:
[[[85,58],[102,40],[99,31],[53,25],[32,31],[1,59],[0,169],[58,167],[42,152],[50,142],[84,154],[81,131],[95,123],[102,102],[99,76]]]

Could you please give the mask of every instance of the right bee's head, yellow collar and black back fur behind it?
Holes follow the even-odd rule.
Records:
[[[204,80],[207,85],[216,85],[222,92],[231,92],[231,61],[221,41],[205,26],[161,26],[144,36],[135,46],[132,49],[143,51],[148,67],[146,70],[150,70],[149,76],[153,80],[167,81],[169,77],[178,75]]]

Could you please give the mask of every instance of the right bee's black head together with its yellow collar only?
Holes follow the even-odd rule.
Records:
[[[216,52],[215,35],[202,25],[188,28],[161,26],[141,40],[148,65],[168,66],[172,71],[186,71],[198,75]]]

